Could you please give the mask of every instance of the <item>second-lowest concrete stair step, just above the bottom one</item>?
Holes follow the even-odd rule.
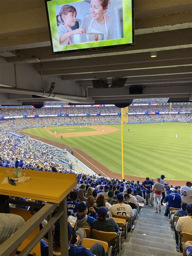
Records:
[[[130,238],[129,244],[130,243],[133,243],[135,245],[143,245],[143,246],[149,246],[149,247],[154,247],[154,248],[158,248],[158,249],[168,250],[171,252],[177,251],[175,245],[170,245],[170,244],[160,243],[160,242],[155,242],[155,241],[149,241],[149,240],[146,241],[144,239],[135,238],[135,237]]]

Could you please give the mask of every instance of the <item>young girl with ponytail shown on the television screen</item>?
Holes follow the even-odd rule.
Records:
[[[76,15],[77,11],[75,7],[66,4],[62,6],[59,14],[56,16],[60,45],[70,45],[70,36],[84,33],[82,28],[71,29],[75,25]]]

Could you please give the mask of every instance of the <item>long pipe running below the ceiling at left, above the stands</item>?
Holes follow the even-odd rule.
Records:
[[[51,83],[51,87],[49,92],[45,91],[35,91],[35,90],[26,90],[26,89],[19,89],[13,87],[3,87],[0,86],[0,92],[4,93],[15,93],[15,94],[26,94],[26,95],[37,95],[46,98],[69,98],[69,99],[79,99],[79,100],[86,100],[88,97],[88,90],[85,88],[85,96],[84,95],[70,95],[70,94],[60,94],[55,93],[55,83]]]

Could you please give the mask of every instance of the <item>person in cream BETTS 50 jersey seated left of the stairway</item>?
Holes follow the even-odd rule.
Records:
[[[134,223],[134,220],[136,219],[138,214],[136,209],[132,209],[130,205],[124,204],[124,195],[120,193],[117,194],[117,204],[112,205],[109,211],[112,214],[129,216],[130,218],[132,218],[132,223]]]

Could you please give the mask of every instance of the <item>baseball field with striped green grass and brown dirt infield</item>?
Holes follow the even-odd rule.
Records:
[[[53,126],[23,132],[58,147],[67,145],[93,171],[121,177],[120,125]],[[192,124],[126,124],[124,171],[128,177],[156,178],[164,174],[166,180],[192,180]]]

